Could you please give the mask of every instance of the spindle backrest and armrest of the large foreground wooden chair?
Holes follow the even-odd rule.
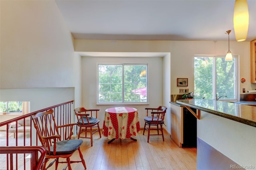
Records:
[[[72,137],[73,127],[67,127],[66,125],[57,126],[52,109],[45,112],[38,112],[32,115],[31,118],[36,128],[38,138],[46,150],[50,150],[50,147],[57,141],[68,140]],[[61,130],[60,133],[62,135],[60,135],[59,130]]]

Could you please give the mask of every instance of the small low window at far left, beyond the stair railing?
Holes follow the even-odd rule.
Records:
[[[26,114],[29,112],[29,102],[1,101],[0,112],[3,114]]]

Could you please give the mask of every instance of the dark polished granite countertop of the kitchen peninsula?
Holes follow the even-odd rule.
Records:
[[[177,100],[176,103],[256,127],[255,106],[210,99]]]

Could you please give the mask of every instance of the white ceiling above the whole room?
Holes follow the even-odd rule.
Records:
[[[235,0],[55,0],[75,39],[236,41]],[[246,41],[256,39],[256,0],[247,0]]]

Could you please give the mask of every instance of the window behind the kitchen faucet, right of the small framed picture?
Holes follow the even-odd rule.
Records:
[[[237,99],[237,56],[225,61],[224,56],[194,57],[194,93],[195,99]]]

